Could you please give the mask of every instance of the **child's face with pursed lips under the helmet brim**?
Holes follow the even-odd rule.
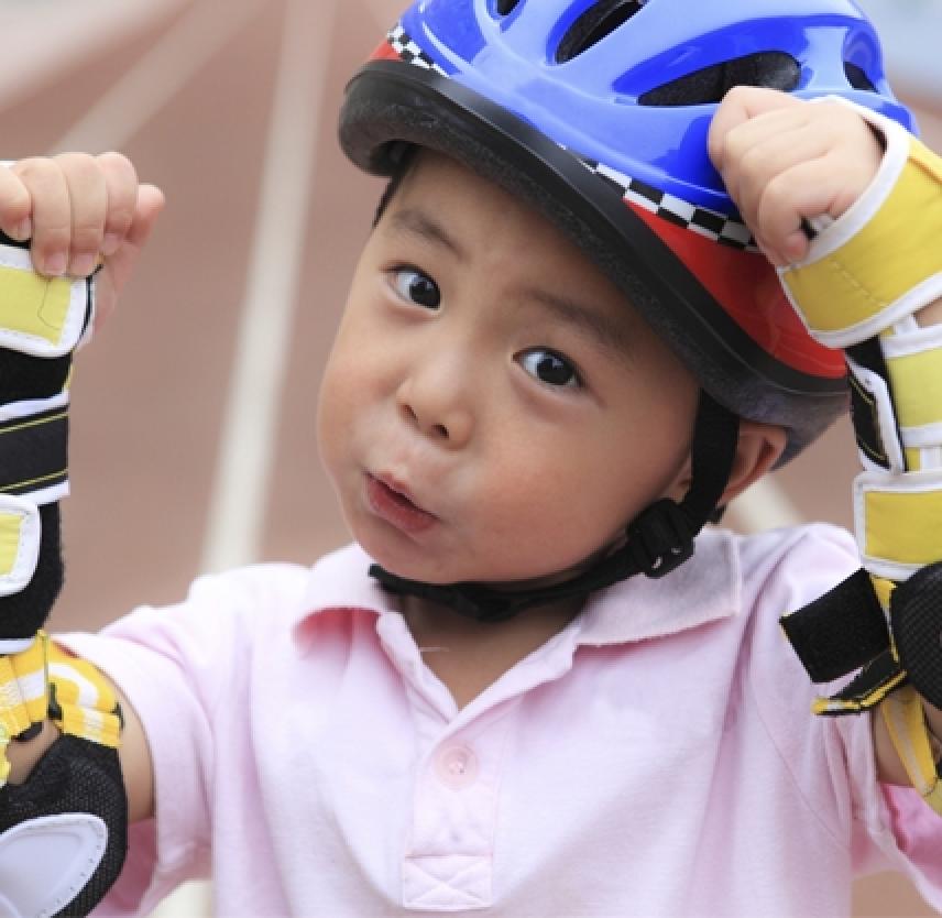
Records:
[[[383,567],[535,580],[686,490],[698,387],[548,221],[423,153],[355,270],[324,461]]]

